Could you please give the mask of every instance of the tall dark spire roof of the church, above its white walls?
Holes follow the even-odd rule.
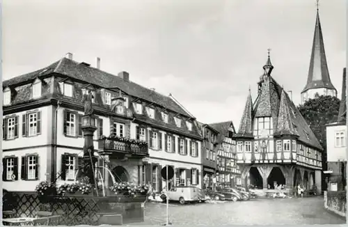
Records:
[[[307,84],[305,88],[303,88],[302,93],[313,88],[328,88],[336,91],[335,87],[331,83],[329,69],[326,62],[322,26],[319,19],[319,10],[317,10],[317,19],[315,22]]]

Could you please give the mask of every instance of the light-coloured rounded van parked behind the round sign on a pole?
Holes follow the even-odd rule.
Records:
[[[163,192],[160,197],[163,201],[166,201],[166,192]],[[169,201],[179,201],[180,204],[185,204],[187,202],[203,201],[205,194],[198,187],[176,186],[168,191],[168,198]]]

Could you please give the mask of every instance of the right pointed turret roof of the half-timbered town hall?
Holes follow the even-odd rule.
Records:
[[[285,93],[284,89],[280,95],[280,105],[279,105],[279,114],[278,114],[278,123],[276,127],[276,132],[274,135],[295,135],[299,136],[292,122],[291,112],[292,109],[289,107],[289,97]]]

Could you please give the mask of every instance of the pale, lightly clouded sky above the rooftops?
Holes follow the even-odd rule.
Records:
[[[198,121],[232,120],[248,89],[253,100],[271,49],[272,76],[292,91],[306,85],[315,0],[8,0],[3,1],[3,79],[32,72],[71,52],[73,59],[164,95]],[[331,81],[340,97],[346,65],[347,2],[319,1]]]

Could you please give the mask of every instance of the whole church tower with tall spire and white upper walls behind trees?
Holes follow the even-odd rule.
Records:
[[[318,1],[318,0],[317,0]],[[317,6],[317,19],[313,37],[312,54],[310,55],[310,65],[308,79],[305,88],[301,92],[301,103],[308,99],[313,99],[317,95],[337,96],[337,90],[331,83],[329,69],[326,62],[322,26],[319,19],[319,8]]]

